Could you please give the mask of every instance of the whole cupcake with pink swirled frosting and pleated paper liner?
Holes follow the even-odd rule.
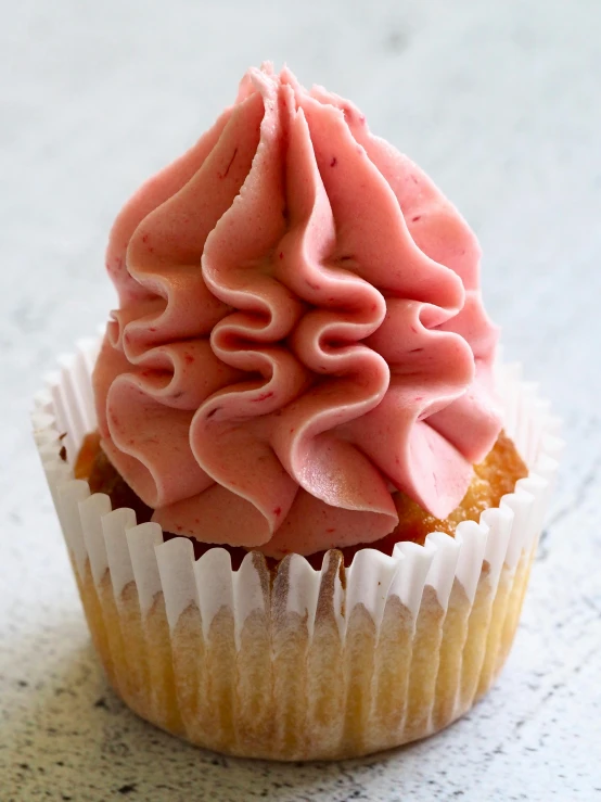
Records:
[[[120,212],[118,308],[36,402],[139,715],[277,760],[431,735],[510,649],[560,443],[475,235],[349,102],[250,69]]]

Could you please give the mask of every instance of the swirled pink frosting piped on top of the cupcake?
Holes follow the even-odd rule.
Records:
[[[438,518],[500,430],[477,241],[360,112],[287,69],[119,214],[102,446],[167,531],[310,553]]]

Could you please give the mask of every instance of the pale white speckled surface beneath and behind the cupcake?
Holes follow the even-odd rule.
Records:
[[[598,0],[23,0],[0,29],[0,799],[601,799]],[[119,204],[284,60],[354,99],[476,229],[488,308],[564,418],[523,622],[493,692],[366,760],[228,760],[145,725],[91,651],[27,409],[113,304]]]

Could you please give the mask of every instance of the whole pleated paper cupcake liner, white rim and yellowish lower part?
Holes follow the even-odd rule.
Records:
[[[561,453],[558,420],[520,366],[500,365],[504,429],[529,475],[478,523],[393,556],[272,574],[258,552],[194,561],[187,538],[111,510],[61,459],[95,429],[99,343],[80,343],[35,399],[35,437],[110,682],[140,715],[200,746],[279,760],[366,754],[470,709],[511,646]],[[62,436],[64,435],[64,437]]]

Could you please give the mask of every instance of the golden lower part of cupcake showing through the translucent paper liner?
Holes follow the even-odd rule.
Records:
[[[97,586],[88,564],[78,585],[106,676],[142,718],[231,755],[333,760],[423,738],[468,712],[509,653],[529,563],[523,555],[504,568],[496,589],[485,564],[473,603],[456,582],[446,610],[426,587],[417,620],[391,597],[378,632],[356,606],[344,642],[327,613],[310,635],[297,613],[257,612],[238,645],[227,608],[205,638],[195,606],[170,631],[162,594],[142,616],[135,583],[116,598],[108,574]],[[332,556],[324,611],[337,570]]]

